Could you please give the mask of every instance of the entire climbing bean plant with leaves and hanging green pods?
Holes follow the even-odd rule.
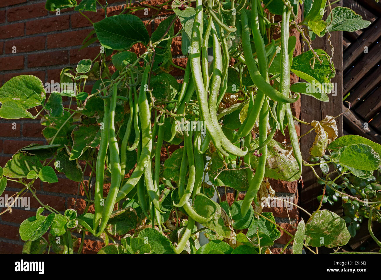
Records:
[[[96,13],[97,2],[47,0],[46,9]],[[62,69],[57,85],[21,75],[0,88],[0,117],[41,117],[48,143],[20,149],[0,168],[0,194],[8,181],[16,181],[24,188],[15,197],[30,192],[41,204],[20,225],[23,252],[81,253],[87,232],[104,241],[100,254],[271,253],[282,228],[272,213],[262,211],[262,198],[275,195],[268,178],[301,180],[303,166],[324,164],[302,159],[295,130],[299,120],[290,105],[301,94],[332,99],[335,66],[328,53],[333,50],[313,49],[311,41],[316,36],[329,40],[331,32],[352,32],[370,22],[327,0],[126,4],[120,14],[93,22],[82,48],[99,41],[98,56]],[[302,7],[303,21],[296,16]],[[147,23],[133,14],[144,9],[171,13],[149,35]],[[274,39],[277,28],[280,37]],[[299,32],[308,51],[293,56],[297,40],[290,29]],[[187,59],[184,68],[174,64],[171,54],[178,36]],[[137,44],[141,53],[131,51]],[[174,67],[184,70],[182,83],[169,74]],[[305,82],[290,85],[291,72]],[[86,84],[91,91],[85,91]],[[353,205],[380,216],[379,184],[372,185],[372,202],[345,196],[344,219],[320,209],[341,176],[347,184],[367,188],[363,180],[373,178],[380,166],[381,146],[354,135],[338,138],[335,118],[301,122],[316,134],[312,159],[327,157],[325,163],[335,163],[338,175],[317,176],[325,184],[319,208],[299,222],[295,235],[282,229],[294,240],[293,253],[310,246],[338,251],[353,231],[346,227],[356,216]],[[273,139],[277,131],[290,141]],[[87,204],[82,214],[60,212],[38,200],[34,182],[58,182],[57,174],[83,186]],[[106,196],[104,184],[109,184]],[[230,205],[221,198],[218,203],[212,199],[217,187],[246,195],[243,200],[237,195]],[[345,193],[335,195],[333,200]],[[11,211],[8,206],[3,213]],[[200,245],[200,234],[207,244]]]

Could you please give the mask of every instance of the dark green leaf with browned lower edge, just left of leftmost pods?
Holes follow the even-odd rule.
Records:
[[[80,157],[86,147],[95,148],[101,139],[101,130],[98,125],[78,125],[71,133],[73,147],[69,160]]]

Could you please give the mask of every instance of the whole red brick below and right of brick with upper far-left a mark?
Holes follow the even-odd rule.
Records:
[[[28,55],[28,67],[68,64],[67,50]]]

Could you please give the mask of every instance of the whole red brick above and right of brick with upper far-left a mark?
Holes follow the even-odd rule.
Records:
[[[53,18],[38,19],[26,23],[26,35],[69,28],[69,15],[55,16]]]

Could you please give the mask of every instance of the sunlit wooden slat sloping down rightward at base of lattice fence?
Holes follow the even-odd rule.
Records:
[[[346,112],[347,110],[348,108],[343,104],[343,112]],[[347,111],[343,116],[344,126],[348,133],[357,134],[368,138],[373,142],[381,143],[381,135],[375,131],[370,124],[368,124],[368,128],[364,128],[365,121],[360,119],[360,117],[357,117],[352,110]]]

